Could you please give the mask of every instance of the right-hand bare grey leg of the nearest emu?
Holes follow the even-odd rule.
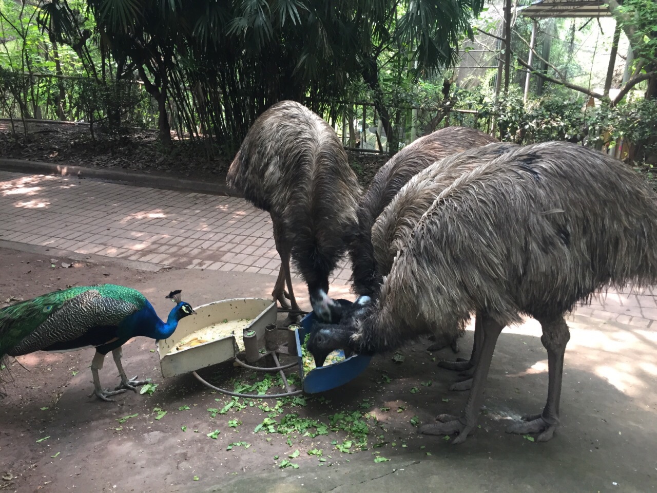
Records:
[[[523,417],[507,428],[507,433],[539,433],[537,440],[547,442],[559,426],[559,400],[561,398],[561,381],[564,371],[564,354],[570,340],[568,324],[563,317],[555,320],[539,320],[543,329],[541,342],[547,349],[548,387],[547,402],[540,415]]]

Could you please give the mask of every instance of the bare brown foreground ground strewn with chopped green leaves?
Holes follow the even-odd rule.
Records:
[[[275,280],[220,271],[144,272],[112,262],[63,268],[62,262],[71,263],[0,250],[0,301],[104,281],[140,289],[164,317],[171,289],[182,289],[198,306],[267,297]],[[303,291],[298,286],[296,292]],[[344,288],[332,294],[351,297]],[[415,425],[438,413],[459,413],[467,398],[449,392],[456,375],[436,367],[434,358],[453,358],[451,350],[430,354],[424,340],[401,351],[401,363],[380,356],[343,387],[279,403],[234,401],[191,375],[164,379],[154,341],[144,338],[124,346],[124,365],[130,376],[152,377],[158,387],[152,395],[127,392],[115,403],[89,397],[93,350],[21,356],[26,369],[10,364],[12,381],[0,402],[0,491],[656,490],[655,332],[579,316],[570,325],[562,427],[545,444],[504,432],[507,419],[535,413],[545,401],[547,356],[533,321],[501,335],[481,429],[461,446],[416,433]],[[468,331],[462,353],[469,353],[471,340]],[[231,364],[200,374],[224,388],[267,387],[265,374]],[[118,384],[111,358],[101,383]]]

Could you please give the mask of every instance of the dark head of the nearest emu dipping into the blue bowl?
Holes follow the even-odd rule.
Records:
[[[369,296],[361,296],[343,314],[340,323],[315,322],[311,327],[306,348],[315,358],[315,366],[323,366],[327,356],[336,349],[344,350],[346,355],[358,352],[351,336],[357,332],[358,319],[365,316],[370,304]]]

